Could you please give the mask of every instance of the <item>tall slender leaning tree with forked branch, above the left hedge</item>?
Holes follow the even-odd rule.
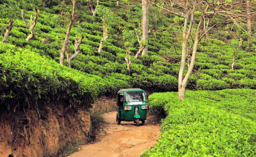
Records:
[[[68,41],[69,41],[69,35],[70,35],[70,30],[73,26],[73,23],[74,23],[74,20],[75,20],[75,16],[76,16],[76,0],[72,0],[72,6],[73,6],[73,9],[72,9],[72,12],[70,11],[69,8],[67,8],[65,6],[65,4],[62,4],[61,2],[59,2],[60,5],[63,6],[63,8],[66,9],[66,11],[69,13],[70,15],[70,19],[69,19],[69,25],[68,25],[68,29],[66,31],[66,36],[65,36],[65,40],[62,44],[62,48],[60,50],[60,64],[61,65],[64,65],[64,58],[65,58],[65,52],[67,50],[67,45],[68,45]],[[66,26],[65,26],[66,27]]]

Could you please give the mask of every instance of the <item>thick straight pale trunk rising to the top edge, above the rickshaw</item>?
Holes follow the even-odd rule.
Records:
[[[142,51],[142,55],[147,55],[147,44],[148,44],[148,2],[142,0],[142,40],[146,40],[145,48]]]

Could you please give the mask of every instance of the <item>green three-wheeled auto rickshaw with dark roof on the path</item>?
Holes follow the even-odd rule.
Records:
[[[140,88],[121,89],[117,92],[117,124],[133,121],[136,126],[144,124],[147,118],[146,93]]]

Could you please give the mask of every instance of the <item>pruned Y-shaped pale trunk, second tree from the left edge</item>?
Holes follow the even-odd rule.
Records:
[[[30,25],[26,21],[24,10],[22,10],[21,14],[22,14],[22,19],[23,19],[25,25],[30,29],[30,35],[28,35],[26,41],[30,41],[30,39],[34,38],[34,36],[35,36],[34,28],[35,28],[36,23],[37,23],[38,14],[36,13],[36,9],[35,9],[34,21],[33,21],[33,15],[31,14],[31,16],[30,16]]]

